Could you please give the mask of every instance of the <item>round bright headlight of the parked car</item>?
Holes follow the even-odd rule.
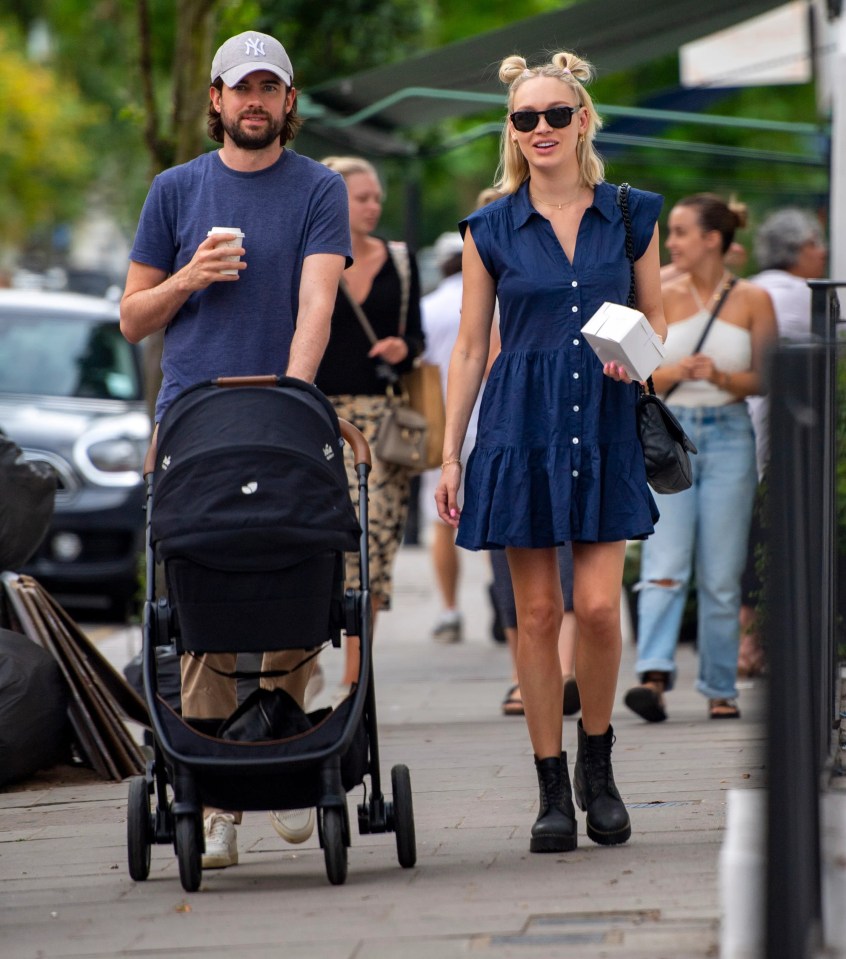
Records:
[[[83,434],[74,444],[74,462],[99,486],[134,486],[141,480],[150,443],[150,420],[143,413],[115,416]]]

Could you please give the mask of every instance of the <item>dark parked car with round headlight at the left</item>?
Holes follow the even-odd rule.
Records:
[[[125,614],[138,590],[151,429],[140,350],[121,335],[115,303],[0,290],[0,427],[58,477],[47,536],[17,572],[68,607]]]

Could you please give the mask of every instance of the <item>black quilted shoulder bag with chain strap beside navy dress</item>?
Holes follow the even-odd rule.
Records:
[[[617,202],[626,227],[626,257],[631,270],[628,306],[634,309],[636,299],[634,241],[629,215],[628,183],[621,184],[617,190]],[[707,333],[707,329],[705,332]],[[666,404],[655,395],[652,377],[650,376],[646,382],[649,387],[648,392],[644,390],[642,384],[637,386],[640,394],[637,399],[637,431],[643,447],[646,479],[656,493],[681,493],[693,484],[690,454],[696,453],[697,450],[679,421]]]

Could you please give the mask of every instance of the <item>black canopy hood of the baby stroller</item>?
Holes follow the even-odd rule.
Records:
[[[308,383],[185,390],[159,424],[158,559],[267,570],[358,549],[343,446],[332,405]]]

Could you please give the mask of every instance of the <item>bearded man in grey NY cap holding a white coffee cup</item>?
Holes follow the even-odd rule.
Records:
[[[153,181],[121,301],[130,342],[165,331],[157,422],[181,390],[218,376],[286,373],[312,382],[351,262],[343,179],[286,148],[301,121],[279,41],[254,31],[227,40],[212,63],[209,97],[209,136],[222,146]],[[209,235],[220,226],[236,233]],[[263,668],[291,669],[302,658],[299,650],[266,654]],[[234,712],[234,680],[207,668],[231,672],[234,660],[183,657],[186,718]],[[278,682],[300,704],[312,665]],[[234,865],[240,813],[204,815],[203,867]],[[271,821],[283,838],[303,842],[314,810],[274,812]]]

